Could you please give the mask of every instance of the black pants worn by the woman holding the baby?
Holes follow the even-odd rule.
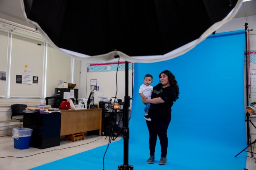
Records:
[[[155,155],[157,135],[160,140],[161,157],[166,157],[168,147],[167,129],[171,119],[146,121],[149,130],[149,151]]]

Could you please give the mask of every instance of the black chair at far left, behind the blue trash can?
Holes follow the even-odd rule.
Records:
[[[11,105],[12,115],[11,115],[11,119],[9,121],[9,125],[12,120],[17,120],[17,121],[19,121],[19,127],[21,128],[21,122],[23,122],[23,118],[14,118],[14,116],[23,116],[24,115],[23,111],[26,110],[26,107],[27,107],[27,105],[24,105],[24,104]],[[9,125],[7,128],[7,135],[8,135]]]

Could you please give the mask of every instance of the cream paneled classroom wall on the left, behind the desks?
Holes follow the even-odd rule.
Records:
[[[73,83],[79,88],[80,61],[57,51],[41,36],[0,27],[0,51],[0,71],[6,73],[6,79],[0,80],[0,136],[7,135],[12,104],[34,106],[45,97],[55,95],[58,80],[71,83],[72,62],[76,80]],[[17,84],[16,75],[23,75],[24,70],[38,76],[38,83]],[[18,121],[11,121],[9,134],[14,127],[19,127]]]

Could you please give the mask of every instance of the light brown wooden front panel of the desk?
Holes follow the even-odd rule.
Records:
[[[60,135],[99,130],[101,136],[102,108],[60,110],[62,113]]]

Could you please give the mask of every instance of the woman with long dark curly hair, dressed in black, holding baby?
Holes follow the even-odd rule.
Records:
[[[161,145],[161,159],[159,165],[166,164],[168,147],[167,129],[171,121],[171,107],[179,98],[179,87],[174,75],[164,70],[159,75],[160,82],[154,86],[151,99],[141,99],[144,103],[151,103],[149,117],[152,121],[146,121],[149,130],[150,157],[147,163],[154,163],[157,136]]]

